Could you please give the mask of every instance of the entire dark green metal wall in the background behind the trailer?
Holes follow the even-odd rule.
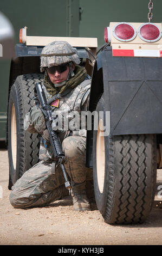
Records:
[[[83,36],[98,38],[104,44],[103,31],[109,22],[147,22],[148,0],[8,0],[0,2],[0,10],[9,17],[15,29],[27,26],[27,35]],[[153,0],[153,20],[161,22],[162,1]],[[79,7],[83,8],[79,21]],[[0,57],[1,60],[1,57]],[[5,137],[10,62],[0,62],[0,139]]]

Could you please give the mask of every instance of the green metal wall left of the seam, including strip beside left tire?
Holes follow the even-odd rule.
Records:
[[[0,2],[0,10],[14,26],[15,43],[24,26],[27,35],[79,36],[79,0],[8,0]],[[0,140],[7,124],[9,73],[10,61],[0,57]]]

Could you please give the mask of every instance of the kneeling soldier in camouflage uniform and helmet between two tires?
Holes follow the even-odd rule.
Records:
[[[79,66],[77,51],[65,41],[54,41],[41,53],[41,72],[44,72],[42,87],[53,114],[72,120],[73,111],[81,115],[88,107],[90,79],[86,69]],[[56,124],[53,122],[53,129]],[[41,109],[35,105],[27,113],[24,129],[42,135],[40,162],[25,172],[12,186],[10,203],[15,208],[46,205],[68,195],[61,169],[54,168],[55,159],[49,143],[49,135]],[[86,130],[57,129],[66,156],[67,173],[72,181],[74,210],[90,210],[86,180],[92,181],[91,168],[85,167]]]

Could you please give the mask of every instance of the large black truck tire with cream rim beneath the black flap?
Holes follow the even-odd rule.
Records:
[[[101,97],[96,112],[105,114]],[[104,117],[104,115],[103,115]],[[100,125],[105,126],[105,118]],[[156,186],[156,136],[93,135],[96,204],[106,223],[142,223],[152,209]]]

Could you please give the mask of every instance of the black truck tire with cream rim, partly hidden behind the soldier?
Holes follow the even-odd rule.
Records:
[[[24,131],[25,114],[33,107],[34,87],[42,74],[21,75],[11,87],[8,105],[9,190],[38,160],[40,137]]]

